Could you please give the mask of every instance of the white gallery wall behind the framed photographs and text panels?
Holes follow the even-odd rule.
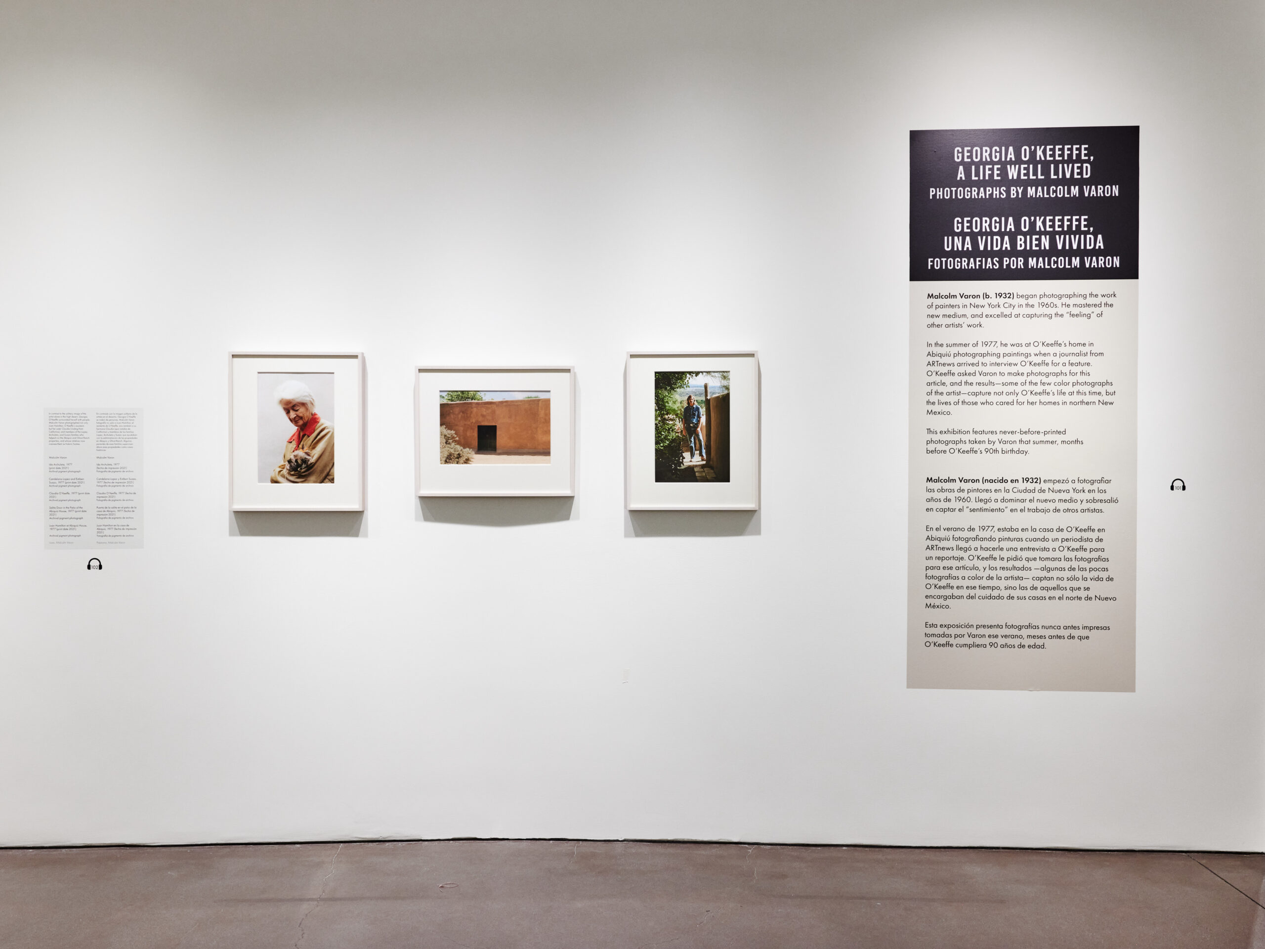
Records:
[[[0,844],[1265,849],[1241,3],[0,0]],[[904,687],[908,130],[1141,127],[1136,693]],[[624,511],[626,350],[763,507]],[[368,510],[230,515],[228,353],[362,350]],[[573,364],[574,501],[419,502],[412,367]],[[144,549],[43,549],[142,407]],[[1190,490],[1170,492],[1174,477]]]

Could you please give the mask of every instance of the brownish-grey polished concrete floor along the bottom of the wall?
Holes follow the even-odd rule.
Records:
[[[443,841],[0,850],[0,945],[1265,948],[1265,855]]]

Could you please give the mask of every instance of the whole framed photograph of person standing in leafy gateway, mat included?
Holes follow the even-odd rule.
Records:
[[[630,511],[760,506],[760,368],[754,350],[629,353]]]

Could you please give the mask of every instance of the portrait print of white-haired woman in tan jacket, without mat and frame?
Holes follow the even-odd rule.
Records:
[[[334,373],[261,372],[259,482],[334,483]]]

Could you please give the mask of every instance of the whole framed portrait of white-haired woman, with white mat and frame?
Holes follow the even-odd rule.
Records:
[[[363,353],[229,354],[234,511],[363,511],[364,480]]]

